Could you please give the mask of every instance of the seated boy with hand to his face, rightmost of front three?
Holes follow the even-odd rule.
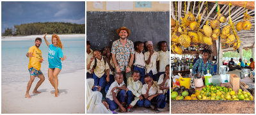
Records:
[[[163,91],[159,89],[157,86],[157,81],[153,81],[150,75],[144,76],[144,81],[146,84],[142,87],[142,95],[144,95],[144,106],[147,108],[151,108],[151,102],[156,102],[156,106],[154,108],[155,112],[159,112],[158,108],[161,107],[161,104],[164,102]]]

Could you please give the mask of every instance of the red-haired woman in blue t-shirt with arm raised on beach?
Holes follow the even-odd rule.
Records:
[[[47,33],[45,33],[46,36]],[[51,82],[52,86],[55,89],[55,92],[52,94],[55,94],[55,97],[58,97],[58,93],[60,91],[58,90],[58,74],[61,71],[62,65],[61,61],[64,61],[67,59],[67,56],[63,56],[63,45],[60,41],[60,38],[58,35],[54,34],[52,35],[52,44],[46,40],[44,36],[45,43],[49,47],[49,53],[48,53],[48,62],[49,62],[49,68],[48,68],[48,77],[49,81]]]

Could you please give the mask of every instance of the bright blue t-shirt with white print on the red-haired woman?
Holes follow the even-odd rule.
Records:
[[[48,61],[49,68],[62,68],[61,59],[63,52],[60,47],[54,47],[53,44],[49,45]]]

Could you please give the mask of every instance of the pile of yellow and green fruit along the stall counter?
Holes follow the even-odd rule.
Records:
[[[191,88],[189,88],[189,91],[190,89]],[[189,94],[188,91],[183,91],[181,95],[179,95],[177,91],[171,91],[172,100],[253,100],[253,96],[246,91],[242,91],[242,89],[239,89],[236,93],[232,88],[226,88],[223,86],[210,87],[207,85],[201,91],[196,90],[196,92],[192,94]]]

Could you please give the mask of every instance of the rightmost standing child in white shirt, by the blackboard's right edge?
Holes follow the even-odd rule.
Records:
[[[170,64],[170,52],[167,50],[167,42],[162,41],[160,43],[161,50],[158,51],[159,53],[159,63],[158,63],[158,76],[162,75],[164,73],[164,68],[166,65]]]

